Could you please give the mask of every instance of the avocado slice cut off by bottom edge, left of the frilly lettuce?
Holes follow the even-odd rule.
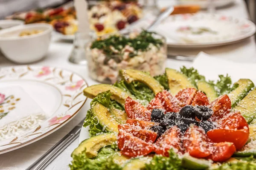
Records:
[[[152,159],[151,157],[141,157],[141,158],[131,159],[131,161],[125,164],[122,170],[141,170],[145,168],[146,164],[149,164],[151,159]]]

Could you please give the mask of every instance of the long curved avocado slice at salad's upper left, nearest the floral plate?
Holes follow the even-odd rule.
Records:
[[[132,99],[136,99],[129,92],[123,91],[121,88],[117,88],[113,85],[99,84],[99,85],[91,85],[84,89],[84,96],[93,99],[99,93],[110,90],[113,95],[111,95],[112,100],[116,100],[123,107],[125,106],[125,99],[130,96]]]

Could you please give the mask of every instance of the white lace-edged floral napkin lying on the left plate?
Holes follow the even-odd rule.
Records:
[[[44,119],[44,111],[23,88],[0,88],[0,141],[23,133]]]

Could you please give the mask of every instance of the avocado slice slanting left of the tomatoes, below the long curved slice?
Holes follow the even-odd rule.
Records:
[[[111,115],[108,108],[100,104],[99,102],[94,102],[91,106],[91,111],[93,115],[99,120],[99,124],[105,128],[108,132],[118,133],[119,124]]]

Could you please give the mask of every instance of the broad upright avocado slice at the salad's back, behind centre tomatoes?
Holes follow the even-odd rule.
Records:
[[[196,88],[194,85],[192,85],[186,75],[172,68],[166,68],[166,76],[168,79],[171,94],[173,96],[175,96],[180,90],[184,88]]]

